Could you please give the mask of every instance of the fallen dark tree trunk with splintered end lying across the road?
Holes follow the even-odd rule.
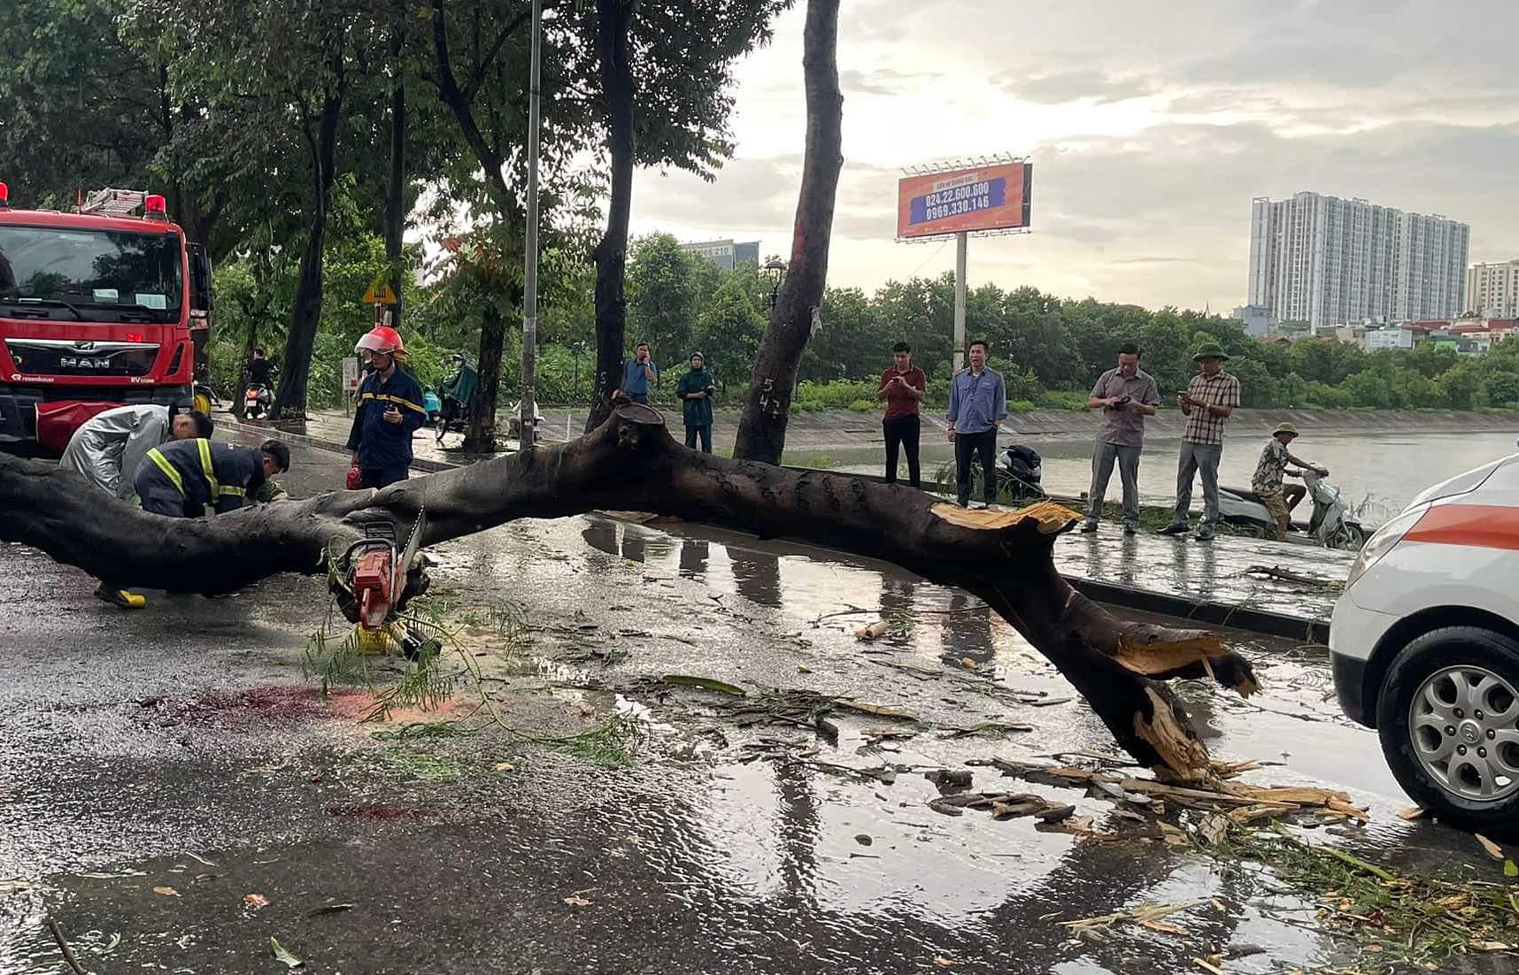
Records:
[[[179,592],[228,592],[275,573],[325,571],[371,519],[404,538],[425,509],[422,544],[516,518],[646,510],[797,538],[895,562],[986,600],[1086,697],[1136,759],[1174,779],[1209,776],[1208,752],[1171,677],[1212,676],[1250,694],[1244,658],[1195,630],[1123,623],[1056,573],[1054,538],[1077,515],[1053,504],[968,512],[899,484],[728,460],[677,445],[664,416],[620,407],[579,440],[210,521],[147,515],[71,471],[0,457],[0,541],[33,545],[97,577]]]

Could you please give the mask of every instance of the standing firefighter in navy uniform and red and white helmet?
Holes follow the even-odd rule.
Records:
[[[360,488],[386,488],[407,478],[412,466],[412,434],[427,422],[422,387],[396,363],[406,361],[406,346],[393,328],[371,330],[354,351],[369,375],[358,384],[358,412],[348,434]]]

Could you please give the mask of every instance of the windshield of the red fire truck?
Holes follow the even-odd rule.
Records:
[[[0,314],[175,322],[179,254],[175,234],[0,226]]]

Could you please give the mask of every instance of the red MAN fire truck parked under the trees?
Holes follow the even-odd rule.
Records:
[[[11,210],[0,182],[0,448],[61,453],[114,405],[210,409],[196,383],[210,311],[211,263],[163,196]]]

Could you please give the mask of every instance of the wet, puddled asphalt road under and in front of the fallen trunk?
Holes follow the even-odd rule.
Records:
[[[331,456],[296,460],[295,494],[342,474]],[[102,975],[286,970],[270,937],[302,970],[349,975],[1176,972],[1209,951],[1264,949],[1227,966],[1249,973],[1332,957],[1305,929],[1311,907],[1197,854],[948,819],[927,808],[937,793],[921,776],[831,768],[1112,750],[1080,702],[1009,697],[1068,688],[963,594],[829,553],[600,516],[434,554],[436,595],[459,614],[506,595],[527,612],[527,641],[512,645],[460,624],[503,720],[567,732],[632,708],[644,740],[630,767],[477,718],[475,734],[439,740],[395,740],[416,715],[358,723],[372,694],[322,700],[302,667],[327,612],[319,579],[225,600],[153,594],[123,615],[81,573],[0,548],[0,973],[65,970],[46,916]],[[907,623],[863,648],[852,629],[883,611]],[[1476,860],[1470,837],[1396,819],[1407,800],[1375,737],[1335,715],[1317,652],[1236,638],[1264,699],[1183,691],[1220,758],[1285,762],[1261,781],[1349,788],[1373,809],[1360,843],[1382,861]],[[372,665],[383,680],[393,662]],[[835,747],[741,727],[722,696],[641,683],[670,673],[852,696],[939,727],[1034,730],[872,744],[869,732],[901,726],[854,715]],[[471,688],[448,717],[472,709]],[[995,784],[977,771],[978,788]],[[1112,816],[1063,797],[1100,825]],[[1086,942],[1059,926],[1194,898],[1223,910],[1179,914],[1186,937]]]

